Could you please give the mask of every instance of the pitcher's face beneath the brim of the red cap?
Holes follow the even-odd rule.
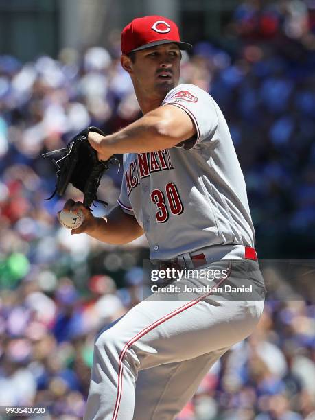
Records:
[[[164,98],[178,84],[180,58],[180,49],[174,43],[136,51],[135,60],[130,63],[136,92]]]

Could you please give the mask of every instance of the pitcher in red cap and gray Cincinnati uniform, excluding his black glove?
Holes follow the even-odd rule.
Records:
[[[223,274],[213,284],[230,288],[209,292],[209,280],[187,277],[186,286],[205,292],[165,299],[156,288],[153,298],[108,325],[95,340],[86,420],[174,419],[213,363],[251,334],[264,308],[246,185],[229,128],[207,92],[178,84],[180,51],[190,47],[163,16],[124,28],[121,66],[143,117],[113,135],[88,136],[100,161],[124,154],[118,205],[106,218],[72,200],[64,209],[84,213],[72,234],[125,244],[144,233],[152,261],[216,270]],[[235,299],[231,290],[244,282],[256,294]]]

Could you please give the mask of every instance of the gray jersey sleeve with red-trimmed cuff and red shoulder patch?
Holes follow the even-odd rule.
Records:
[[[196,126],[196,137],[180,145],[192,149],[199,143],[211,141],[218,127],[218,115],[212,97],[194,84],[180,84],[172,89],[162,105],[174,105],[185,110]]]

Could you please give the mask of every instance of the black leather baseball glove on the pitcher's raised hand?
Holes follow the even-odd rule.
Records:
[[[108,161],[99,161],[96,150],[92,148],[88,141],[90,131],[104,136],[104,132],[99,128],[88,127],[76,135],[67,145],[67,148],[42,154],[44,158],[50,158],[57,167],[56,189],[51,197],[46,198],[46,200],[50,200],[55,194],[63,196],[68,184],[71,183],[73,187],[80,189],[84,194],[83,205],[86,208],[94,204],[94,201],[107,205],[105,201],[97,199],[96,193],[102,175],[108,170],[109,163],[117,161],[117,158],[112,156]]]

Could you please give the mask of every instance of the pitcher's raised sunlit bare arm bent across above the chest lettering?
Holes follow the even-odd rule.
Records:
[[[160,106],[119,132],[102,137],[89,134],[92,147],[106,160],[114,153],[157,152],[172,148],[196,134],[196,127],[184,110]]]

